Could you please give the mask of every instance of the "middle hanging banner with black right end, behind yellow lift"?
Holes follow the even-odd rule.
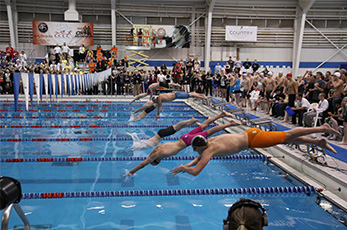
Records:
[[[130,46],[189,48],[190,26],[133,24],[133,29],[133,44]]]

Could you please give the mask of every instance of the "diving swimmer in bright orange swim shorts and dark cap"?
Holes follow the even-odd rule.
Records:
[[[237,134],[223,134],[207,140],[198,135],[192,139],[192,147],[199,156],[186,165],[171,170],[172,174],[189,173],[197,176],[205,168],[212,157],[225,157],[249,148],[267,148],[278,144],[315,144],[336,153],[326,139],[304,137],[312,133],[331,133],[341,135],[327,123],[313,128],[295,128],[288,131],[265,132],[257,128],[247,129]],[[195,167],[192,167],[195,166]]]

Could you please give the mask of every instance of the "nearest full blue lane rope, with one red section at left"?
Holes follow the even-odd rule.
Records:
[[[90,197],[133,197],[133,196],[190,196],[190,195],[227,195],[227,194],[284,194],[316,193],[314,186],[295,187],[258,187],[258,188],[215,188],[215,189],[170,189],[170,190],[130,190],[99,192],[50,192],[23,193],[22,199],[52,198],[90,198]]]

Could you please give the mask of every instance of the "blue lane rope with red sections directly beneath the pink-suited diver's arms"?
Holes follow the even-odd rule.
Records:
[[[195,156],[171,156],[164,161],[172,160],[194,160]],[[82,161],[144,161],[146,157],[58,157],[58,158],[8,158],[0,159],[2,163],[21,162],[82,162]],[[264,155],[232,155],[226,157],[212,157],[212,160],[267,160]]]

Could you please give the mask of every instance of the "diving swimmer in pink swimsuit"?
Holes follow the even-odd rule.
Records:
[[[221,114],[205,120],[199,127],[193,129],[189,133],[183,134],[178,141],[167,142],[167,143],[158,145],[150,153],[150,155],[146,158],[146,160],[144,160],[139,165],[137,165],[135,168],[130,170],[126,174],[126,176],[132,176],[135,172],[146,167],[148,164],[158,165],[162,159],[178,154],[181,150],[187,148],[191,144],[191,140],[196,135],[200,135],[200,136],[203,136],[204,138],[207,138],[208,136],[211,136],[212,134],[219,132],[219,131],[221,131],[221,130],[229,127],[229,126],[239,125],[238,123],[236,123],[234,121],[230,121],[227,124],[218,125],[218,126],[212,127],[211,129],[204,131],[212,122],[214,122],[215,120],[217,120],[219,118],[225,117],[225,116],[234,117],[232,114],[230,114],[226,111],[223,111]]]

